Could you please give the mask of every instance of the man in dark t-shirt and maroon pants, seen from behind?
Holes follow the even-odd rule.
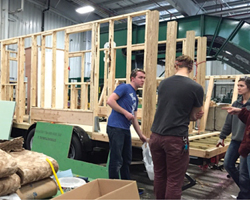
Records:
[[[188,125],[203,115],[203,88],[188,77],[193,60],[182,55],[176,59],[175,68],[176,74],[159,85],[149,140],[156,199],[181,199],[189,163]]]

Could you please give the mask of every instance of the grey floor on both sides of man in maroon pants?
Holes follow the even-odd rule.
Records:
[[[147,177],[144,165],[131,165],[131,179],[136,180],[139,188],[144,188],[141,199],[154,199],[153,181]],[[202,170],[190,164],[189,175],[196,180],[196,185],[183,191],[182,199],[235,199],[239,189],[225,170]],[[185,178],[184,185],[188,184]]]

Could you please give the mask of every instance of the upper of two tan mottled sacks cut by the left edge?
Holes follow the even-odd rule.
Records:
[[[18,170],[17,162],[8,153],[0,149],[0,178],[8,177]]]

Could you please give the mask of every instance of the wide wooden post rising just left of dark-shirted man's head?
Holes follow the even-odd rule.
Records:
[[[177,22],[172,21],[167,24],[167,44],[165,55],[165,77],[175,74]]]

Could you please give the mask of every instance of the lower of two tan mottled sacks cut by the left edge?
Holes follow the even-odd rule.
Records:
[[[12,194],[18,188],[20,188],[20,177],[17,174],[0,179],[0,196]]]

